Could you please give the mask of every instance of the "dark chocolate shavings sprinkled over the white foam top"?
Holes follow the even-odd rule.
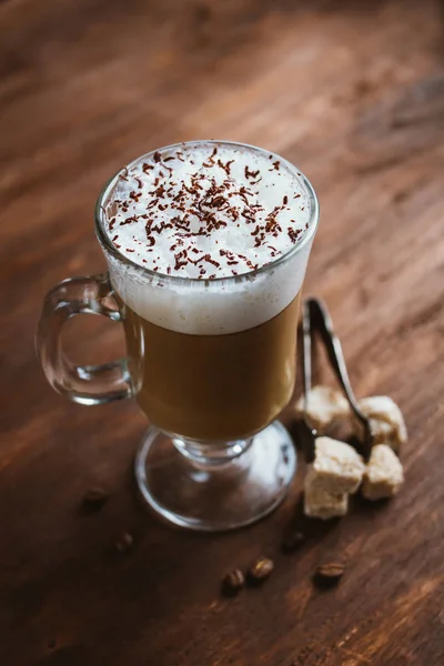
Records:
[[[157,240],[164,235],[172,241],[171,245],[167,246],[173,260],[168,269],[161,270],[168,274],[175,271],[179,274],[188,275],[189,273],[184,269],[190,265],[195,266],[194,270],[199,273],[199,278],[213,279],[216,273],[209,274],[209,265],[213,265],[219,274],[223,274],[224,268],[225,271],[226,268],[230,268],[232,274],[238,275],[239,272],[255,271],[266,261],[278,256],[282,249],[278,250],[278,243],[274,245],[270,241],[273,238],[280,238],[283,226],[291,243],[294,244],[297,241],[302,230],[296,221],[291,220],[291,226],[289,226],[287,218],[283,224],[281,216],[289,214],[289,195],[283,194],[281,205],[275,205],[270,212],[266,211],[258,201],[259,193],[254,190],[254,185],[262,181],[260,169],[254,170],[250,165],[245,165],[244,181],[240,183],[232,176],[234,160],[224,161],[220,157],[221,153],[218,153],[218,147],[214,147],[211,154],[206,154],[201,162],[198,162],[192,173],[189,173],[183,181],[179,178],[174,180],[174,169],[167,164],[174,160],[185,161],[183,152],[180,150],[165,158],[160,151],[155,151],[152,155],[152,163],[143,162],[120,174],[130,184],[122,184],[120,198],[115,198],[112,202],[118,212],[108,224],[109,231],[111,232],[115,224],[119,226],[135,225],[140,220],[143,220],[145,225],[147,240],[140,240],[135,233],[132,244],[137,249],[127,246],[127,252],[153,252],[152,248],[157,244]],[[272,163],[269,171],[279,171],[280,160],[276,160],[274,155],[270,155],[269,159]],[[188,161],[188,164],[193,163],[193,160]],[[245,183],[245,181],[248,182]],[[122,195],[122,192],[125,193]],[[300,196],[300,193],[294,194],[294,199]],[[128,216],[122,215],[128,212],[130,212]],[[222,245],[231,243],[230,230],[241,226],[246,234],[243,253],[219,245],[219,243]],[[309,224],[306,224],[307,228]],[[134,226],[134,229],[137,228]],[[220,230],[226,231],[220,236],[214,236],[215,232]],[[204,238],[212,239],[213,248],[218,244],[218,254],[223,258],[222,262],[216,261],[214,251],[210,253],[204,250],[205,242],[198,240]],[[117,240],[118,235],[115,234],[112,242],[119,248],[120,245],[115,243]],[[198,246],[193,246],[194,241]],[[286,246],[287,243],[289,241],[286,241]],[[161,245],[164,246],[163,243]],[[261,251],[262,261],[259,262],[258,254],[252,253],[252,250],[259,251],[261,248],[265,249],[265,254]],[[246,250],[249,251],[246,252]],[[161,250],[154,251],[153,256],[159,255],[160,252]],[[141,258],[141,261],[147,263],[145,258]],[[151,262],[153,270],[159,270],[160,266],[155,265],[155,261],[159,259]],[[163,263],[163,259],[161,262]],[[234,270],[232,266],[240,268]],[[190,275],[195,275],[195,273],[190,273]]]

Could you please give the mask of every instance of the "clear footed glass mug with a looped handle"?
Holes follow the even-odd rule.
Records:
[[[230,142],[180,147],[212,143],[270,155]],[[95,208],[109,272],[61,282],[47,295],[39,324],[38,354],[56,391],[84,405],[137,398],[151,423],[135,457],[142,497],[168,521],[194,529],[224,531],[260,519],[284,498],[295,472],[291,437],[275,418],[294,389],[299,305],[319,205],[307,179],[279,155],[273,159],[291,169],[310,205],[307,230],[285,254],[212,280],[142,268],[105,231],[121,170]],[[69,361],[61,330],[85,313],[122,322],[125,359],[98,366]]]

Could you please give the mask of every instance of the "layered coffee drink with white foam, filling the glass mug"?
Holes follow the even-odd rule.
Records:
[[[164,432],[248,437],[289,402],[311,189],[289,162],[224,142],[135,160],[102,210],[138,401]]]

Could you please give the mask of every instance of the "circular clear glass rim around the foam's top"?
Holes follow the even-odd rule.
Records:
[[[306,233],[302,234],[301,239],[297,240],[294,243],[294,245],[292,245],[290,248],[290,250],[287,250],[284,254],[281,254],[280,256],[278,256],[278,259],[260,266],[259,269],[253,269],[253,270],[246,271],[245,273],[240,273],[239,275],[225,275],[223,278],[212,278],[212,279],[210,279],[210,278],[205,278],[205,279],[184,278],[183,275],[169,275],[168,273],[161,273],[160,271],[153,271],[145,266],[141,266],[138,262],[131,260],[129,256],[127,256],[125,254],[120,252],[119,249],[115,248],[115,245],[112,243],[111,239],[109,238],[109,235],[104,229],[104,216],[107,214],[105,210],[104,210],[104,202],[105,202],[107,198],[109,196],[110,192],[113,190],[121,173],[123,173],[127,169],[131,169],[131,167],[135,165],[140,161],[150,159],[155,152],[165,151],[165,150],[176,150],[179,148],[183,148],[183,145],[198,145],[199,147],[199,145],[203,145],[203,144],[210,144],[210,145],[216,144],[216,145],[228,145],[228,147],[232,145],[232,147],[236,147],[236,148],[246,148],[248,150],[252,150],[254,152],[259,152],[264,155],[273,155],[273,158],[275,157],[280,161],[284,162],[285,165],[290,169],[290,171],[295,176],[297,176],[297,179],[300,181],[302,181],[303,185],[306,188],[306,190],[309,192],[309,200],[310,200],[311,208],[310,208],[310,218],[309,218],[309,222],[307,222],[309,229],[306,230]],[[305,248],[305,245],[307,243],[310,243],[313,240],[313,238],[316,233],[316,230],[317,230],[319,218],[320,218],[320,206],[319,206],[317,196],[313,189],[313,185],[311,184],[311,182],[306,178],[306,175],[295,164],[293,164],[292,162],[290,162],[289,160],[286,160],[285,158],[283,158],[282,155],[280,155],[273,151],[265,150],[263,148],[253,145],[251,143],[242,143],[240,141],[224,141],[224,140],[216,140],[216,139],[208,139],[208,140],[202,139],[202,140],[195,140],[195,141],[182,141],[179,143],[171,143],[170,145],[163,145],[161,148],[150,150],[148,153],[144,153],[144,154],[140,155],[139,158],[135,158],[134,160],[132,160],[131,162],[129,162],[128,164],[125,164],[124,167],[119,169],[119,171],[115,172],[114,175],[112,175],[110,178],[110,180],[107,182],[107,184],[102,189],[101,193],[99,194],[99,198],[95,203],[95,211],[94,211],[94,230],[95,230],[95,235],[99,240],[99,243],[102,245],[102,248],[107,249],[107,251],[110,252],[110,254],[113,255],[121,263],[123,263],[128,266],[131,266],[131,268],[135,269],[137,271],[140,271],[141,273],[148,275],[149,278],[157,279],[158,281],[162,280],[165,282],[170,282],[171,284],[172,283],[174,283],[174,284],[191,284],[191,283],[193,283],[193,284],[200,284],[201,286],[203,286],[203,285],[214,284],[214,283],[218,283],[218,285],[221,285],[224,283],[233,284],[233,283],[243,282],[245,280],[251,280],[252,278],[255,278],[256,275],[260,275],[262,273],[268,273],[269,271],[286,263],[293,256],[299,254],[299,252],[303,248]]]

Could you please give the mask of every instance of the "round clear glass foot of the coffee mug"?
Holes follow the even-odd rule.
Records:
[[[278,421],[223,465],[196,464],[150,427],[135,456],[142,498],[163,519],[201,532],[251,525],[284,500],[296,470],[290,434]]]

